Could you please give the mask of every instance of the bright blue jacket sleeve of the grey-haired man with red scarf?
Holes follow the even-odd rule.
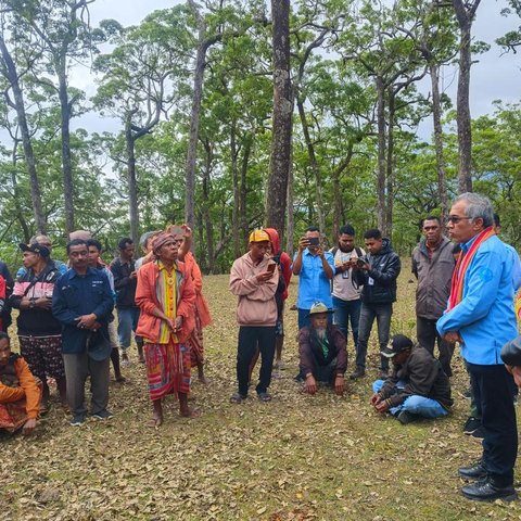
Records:
[[[463,298],[440,318],[437,332],[443,335],[459,331],[485,317],[496,298],[501,271],[503,263],[497,262],[494,252],[478,253],[466,276]]]

